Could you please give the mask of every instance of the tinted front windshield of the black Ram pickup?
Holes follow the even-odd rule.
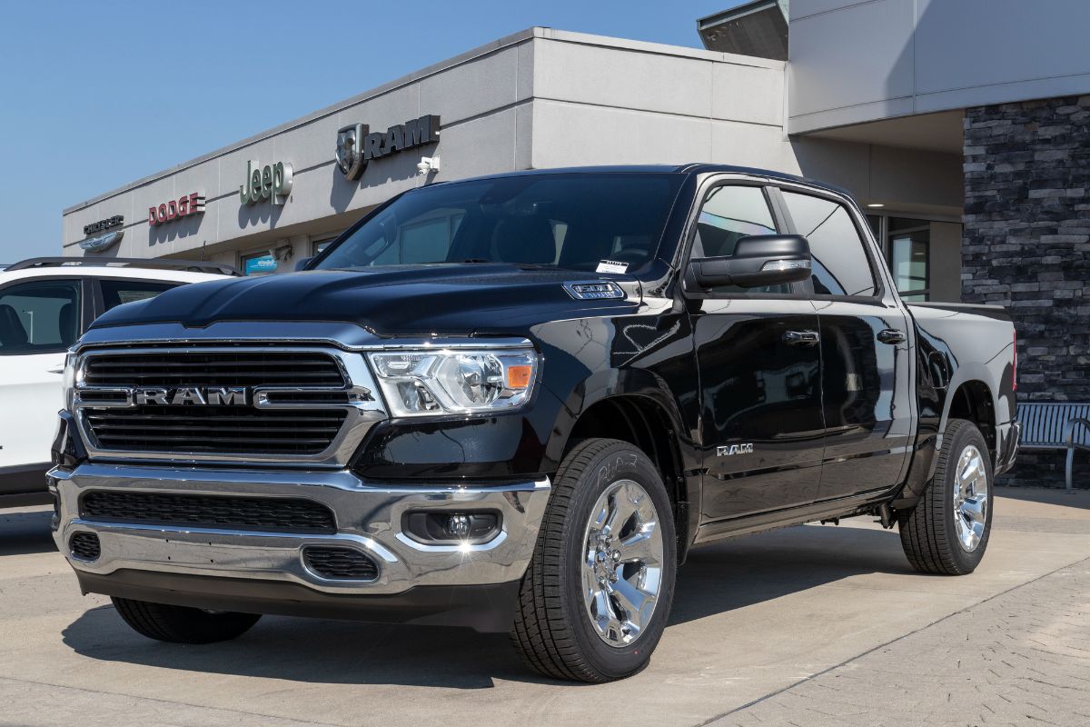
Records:
[[[320,257],[316,269],[513,263],[634,270],[658,249],[681,175],[524,174],[414,190]]]

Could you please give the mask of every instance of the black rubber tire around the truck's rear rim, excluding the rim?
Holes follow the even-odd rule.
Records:
[[[957,464],[969,447],[981,455],[986,478],[983,532],[972,550],[961,544],[955,518],[960,518],[955,507]],[[917,506],[898,517],[900,544],[912,568],[921,573],[965,575],[976,570],[984,557],[992,531],[992,462],[988,444],[977,425],[966,420],[953,419],[943,433],[943,448],[938,452],[935,476],[928,485]]]

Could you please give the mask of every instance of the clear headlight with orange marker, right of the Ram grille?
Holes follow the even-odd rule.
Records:
[[[480,414],[524,404],[537,380],[533,349],[368,354],[393,416]]]

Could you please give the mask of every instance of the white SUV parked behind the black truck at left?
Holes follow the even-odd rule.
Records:
[[[0,270],[0,507],[48,502],[64,354],[96,317],[190,282],[239,275],[171,259],[37,257]]]

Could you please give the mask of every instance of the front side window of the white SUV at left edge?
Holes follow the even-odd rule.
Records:
[[[0,355],[59,353],[78,337],[78,280],[35,280],[0,291]]]

